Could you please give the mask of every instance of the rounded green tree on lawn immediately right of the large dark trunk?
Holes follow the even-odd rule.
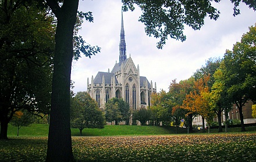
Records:
[[[79,91],[71,100],[70,125],[79,128],[80,135],[84,128],[104,128],[104,115],[97,102],[88,93]]]

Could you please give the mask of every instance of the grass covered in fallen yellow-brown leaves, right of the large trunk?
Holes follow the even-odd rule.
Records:
[[[255,134],[73,137],[79,161],[256,161]]]

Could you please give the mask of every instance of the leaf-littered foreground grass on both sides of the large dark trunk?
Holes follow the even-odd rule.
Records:
[[[72,137],[77,161],[256,161],[256,134]],[[0,161],[45,161],[47,137],[0,141]]]

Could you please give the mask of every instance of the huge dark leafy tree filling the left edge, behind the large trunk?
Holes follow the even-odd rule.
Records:
[[[55,27],[32,1],[4,0],[0,8],[0,139],[7,139],[16,111],[49,113]]]

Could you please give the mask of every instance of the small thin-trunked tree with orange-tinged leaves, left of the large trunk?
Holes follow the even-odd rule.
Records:
[[[10,120],[10,124],[17,127],[17,137],[19,137],[19,130],[22,126],[30,126],[30,124],[33,124],[33,122],[33,115],[27,111],[16,111],[12,117],[12,120]]]

